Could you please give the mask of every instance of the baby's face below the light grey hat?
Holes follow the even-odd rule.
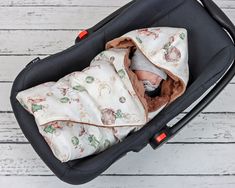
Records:
[[[162,78],[158,76],[157,74],[148,72],[148,71],[143,71],[143,70],[135,70],[135,74],[137,75],[139,80],[148,80],[151,82],[153,85],[160,85]]]

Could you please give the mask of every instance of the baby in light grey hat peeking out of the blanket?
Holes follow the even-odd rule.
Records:
[[[150,96],[156,95],[160,90],[162,80],[167,79],[167,74],[153,65],[139,49],[133,54],[130,68],[143,82],[145,91]]]

